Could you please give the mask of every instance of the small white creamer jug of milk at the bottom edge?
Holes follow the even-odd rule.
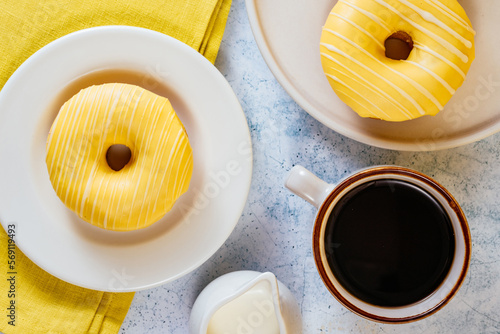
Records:
[[[191,334],[299,334],[300,310],[273,273],[235,271],[212,281],[191,311]]]

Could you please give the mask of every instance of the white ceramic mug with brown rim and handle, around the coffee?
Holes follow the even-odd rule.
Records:
[[[357,186],[375,180],[399,180],[419,187],[433,196],[451,221],[455,250],[451,267],[442,283],[427,297],[409,305],[389,307],[365,302],[337,280],[327,261],[325,229],[333,208]],[[369,320],[383,323],[405,323],[420,320],[441,309],[463,283],[471,256],[471,239],[464,213],[453,196],[439,183],[417,171],[397,166],[377,166],[359,171],[336,185],[328,184],[302,166],[295,166],[285,186],[316,208],[313,228],[313,252],[318,272],[332,295],[347,309]]]

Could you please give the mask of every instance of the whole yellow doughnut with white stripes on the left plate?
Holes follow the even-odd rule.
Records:
[[[115,144],[132,155],[119,171]],[[159,220],[187,191],[193,156],[168,99],[128,84],[83,89],[59,111],[47,140],[47,169],[62,202],[101,228],[129,231]]]

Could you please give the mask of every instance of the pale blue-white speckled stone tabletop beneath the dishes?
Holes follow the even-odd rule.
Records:
[[[500,333],[500,134],[456,149],[397,152],[343,137],[302,110],[275,80],[255,44],[244,0],[233,0],[216,67],[245,111],[254,148],[253,182],[234,232],[187,276],[136,293],[120,333],[187,334],[197,295],[235,270],[271,271],[297,298],[304,333]],[[500,106],[499,106],[500,107]],[[364,320],[324,287],[311,250],[315,209],[283,187],[304,165],[329,182],[364,167],[395,164],[443,184],[468,217],[472,260],[455,298],[413,324]]]

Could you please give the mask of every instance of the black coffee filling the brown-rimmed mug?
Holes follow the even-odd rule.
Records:
[[[379,306],[402,306],[432,293],[453,261],[450,218],[426,191],[377,180],[351,190],[332,211],[325,251],[340,284]]]

